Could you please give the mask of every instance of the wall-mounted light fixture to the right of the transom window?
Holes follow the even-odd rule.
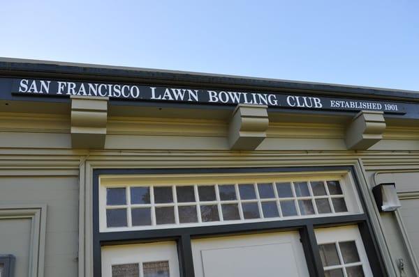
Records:
[[[402,207],[395,183],[378,184],[372,188],[372,193],[380,212],[392,212]]]

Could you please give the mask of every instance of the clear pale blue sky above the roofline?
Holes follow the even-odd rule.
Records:
[[[419,90],[418,0],[65,2],[2,1],[0,56]]]

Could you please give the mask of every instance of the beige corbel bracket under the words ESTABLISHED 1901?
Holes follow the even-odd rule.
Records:
[[[383,115],[382,111],[360,111],[346,129],[346,148],[367,150],[383,139],[385,130]]]

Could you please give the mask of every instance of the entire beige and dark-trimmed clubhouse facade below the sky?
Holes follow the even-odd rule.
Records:
[[[419,276],[419,93],[3,58],[0,107],[1,277]]]

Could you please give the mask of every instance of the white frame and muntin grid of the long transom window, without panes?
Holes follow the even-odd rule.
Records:
[[[269,176],[269,177],[268,177]],[[302,177],[303,176],[303,177]],[[236,175],[236,179],[240,182],[231,182],[231,180],[235,180],[232,174],[228,174],[228,180],[223,180],[222,175],[193,175],[193,178],[189,175],[147,175],[144,176],[133,176],[133,175],[113,175],[113,176],[101,176],[100,178],[100,189],[99,189],[99,209],[100,209],[100,230],[101,232],[115,232],[115,231],[124,231],[124,230],[149,230],[149,229],[163,229],[163,228],[181,228],[181,227],[190,227],[190,226],[200,226],[200,225],[222,225],[222,224],[231,224],[231,223],[249,223],[249,222],[260,222],[260,221],[277,221],[277,220],[287,220],[287,219],[298,219],[298,218],[310,218],[310,217],[318,217],[318,216],[337,216],[340,214],[358,214],[362,212],[362,207],[360,206],[360,200],[358,198],[358,193],[356,193],[353,180],[351,178],[351,174],[348,172],[344,173],[337,173],[322,175],[322,174],[297,174],[297,175],[289,175],[287,174],[285,177],[272,174],[272,173],[264,173],[263,176],[256,175],[253,176],[251,174],[240,174]],[[142,180],[144,179],[144,180]],[[218,179],[218,180],[217,180]],[[154,180],[154,182],[152,182]],[[276,180],[276,182],[274,181]],[[320,180],[338,180],[341,184],[341,190],[343,192],[344,201],[346,203],[346,207],[348,212],[335,212],[333,209],[334,205],[332,205],[331,201],[333,198],[339,198],[339,196],[332,196],[328,192],[326,196],[314,196],[311,190],[311,186],[309,185],[310,196],[296,196],[295,194],[295,186],[293,188],[293,197],[290,198],[279,198],[277,194],[277,189],[275,187],[276,183],[279,182],[313,182],[313,181],[320,181]],[[219,182],[217,182],[219,181]],[[259,183],[268,183],[272,182],[274,185],[274,197],[273,198],[260,198],[259,190],[257,184]],[[148,185],[152,184],[154,185]],[[198,183],[198,184],[197,184]],[[238,191],[239,184],[249,184],[253,183],[254,189],[256,191],[256,199],[252,200],[243,200],[240,199],[240,192]],[[223,200],[219,199],[219,186],[225,184],[234,184],[235,191],[236,191],[236,200]],[[172,186],[172,196],[173,196],[173,203],[154,203],[154,187],[167,187],[168,185]],[[195,202],[188,202],[188,203],[177,203],[176,196],[177,193],[175,191],[175,187],[182,187],[182,186],[190,186],[193,185],[194,194],[195,194]],[[216,200],[214,201],[200,201],[198,197],[198,187],[205,186],[205,185],[215,185],[216,189]],[[129,193],[131,192],[131,187],[150,187],[150,203],[149,204],[130,204],[129,201]],[[122,188],[126,187],[126,205],[106,205],[106,189],[108,188]],[[328,186],[325,186],[325,189],[328,190]],[[318,214],[317,205],[314,203],[316,199],[319,198],[328,198],[329,205],[332,209],[332,213],[330,214]],[[293,200],[295,203],[295,208],[297,209],[297,215],[295,216],[283,216],[280,202],[284,200]],[[298,200],[311,200],[311,203],[314,207],[315,214],[312,215],[301,215],[300,205],[298,205]],[[264,218],[262,205],[263,203],[267,202],[275,202],[277,203],[277,209],[279,212],[278,217],[273,218]],[[242,203],[257,203],[258,211],[260,218],[258,219],[244,219],[243,216],[243,209]],[[219,221],[210,221],[210,222],[203,222],[200,216],[200,208],[202,205],[217,205],[218,213],[219,213]],[[239,209],[240,219],[237,220],[228,220],[223,221],[223,212],[221,209],[221,205],[225,204],[237,204]],[[182,206],[196,206],[196,214],[198,216],[198,222],[194,223],[179,223],[179,213],[178,208]],[[131,208],[135,207],[149,207],[151,209],[152,215],[152,224],[151,225],[142,225],[142,226],[132,226],[131,224]],[[156,207],[173,207],[175,211],[175,222],[173,224],[156,224]],[[106,225],[106,210],[107,209],[115,209],[115,208],[125,208],[126,209],[126,227],[107,227]]]

